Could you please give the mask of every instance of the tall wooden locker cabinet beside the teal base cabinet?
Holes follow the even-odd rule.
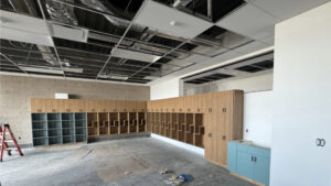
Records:
[[[241,90],[207,94],[205,157],[221,166],[227,164],[227,141],[243,136],[243,96]]]

